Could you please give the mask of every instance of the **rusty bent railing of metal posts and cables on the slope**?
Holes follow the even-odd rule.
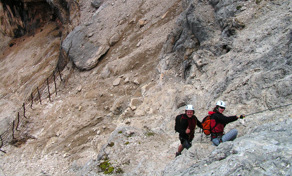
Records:
[[[70,46],[71,47],[71,46]],[[38,109],[44,109],[48,104],[52,104],[54,100],[60,100],[58,97],[58,92],[64,92],[60,88],[70,87],[64,83],[64,78],[69,78],[64,72],[69,70],[67,67],[67,57],[62,57],[59,55],[59,59],[55,69],[53,69],[52,74],[44,79],[31,93],[27,95],[25,101],[20,105],[19,109],[16,111],[16,116],[14,120],[8,123],[8,128],[0,134],[0,151],[6,153],[2,150],[3,147],[12,144],[13,142],[26,141],[28,138],[28,133],[33,130],[38,130],[42,127],[34,127],[34,124],[46,123],[46,121],[31,122],[34,119],[35,114]],[[61,71],[61,69],[64,69]],[[35,112],[36,111],[36,112]],[[34,115],[33,115],[34,114]],[[37,116],[37,115],[36,115]],[[50,137],[49,137],[50,138]],[[48,139],[48,138],[46,138]]]

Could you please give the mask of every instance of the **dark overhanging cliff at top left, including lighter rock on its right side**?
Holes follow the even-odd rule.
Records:
[[[0,30],[10,37],[31,36],[47,22],[56,21],[65,32],[71,30],[70,25],[78,20],[78,9],[77,2],[73,0],[1,0]],[[66,36],[66,33],[63,35]]]

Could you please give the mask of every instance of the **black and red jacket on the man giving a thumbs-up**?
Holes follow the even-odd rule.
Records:
[[[203,129],[201,122],[195,115],[193,115],[191,118],[189,118],[187,114],[181,114],[180,116],[182,116],[182,119],[180,121],[180,127],[178,130],[178,133],[180,133],[179,136],[183,139],[194,139],[194,131],[196,126]],[[187,127],[189,127],[191,130],[190,134],[185,133]]]

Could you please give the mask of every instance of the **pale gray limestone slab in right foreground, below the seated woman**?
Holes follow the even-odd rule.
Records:
[[[291,131],[292,119],[257,126],[178,175],[291,175]]]

